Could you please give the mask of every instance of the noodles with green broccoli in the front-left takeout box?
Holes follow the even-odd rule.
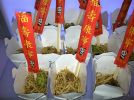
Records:
[[[26,94],[29,93],[47,93],[47,78],[48,72],[40,70],[37,73],[36,79],[33,73],[29,73],[25,79],[24,91]]]

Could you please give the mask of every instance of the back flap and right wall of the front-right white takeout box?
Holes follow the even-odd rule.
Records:
[[[118,68],[117,65],[114,64],[115,57],[116,54],[113,52],[97,55],[93,59],[93,65],[96,68],[96,72],[105,75],[116,75],[116,80],[120,88],[123,90],[123,94],[127,94],[130,85],[130,71],[128,67],[125,69]]]

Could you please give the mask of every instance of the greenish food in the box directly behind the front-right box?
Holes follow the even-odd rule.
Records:
[[[105,45],[92,45],[93,55],[99,55],[108,52],[107,44]]]

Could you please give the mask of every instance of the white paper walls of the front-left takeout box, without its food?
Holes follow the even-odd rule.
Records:
[[[46,69],[45,71],[48,72],[48,68],[44,68]],[[46,97],[46,93],[27,93],[25,94],[24,92],[24,86],[25,86],[25,81],[26,81],[26,77],[28,76],[28,71],[27,71],[27,67],[24,64],[20,64],[18,69],[14,69],[13,70],[13,74],[14,74],[14,90],[16,92],[16,94],[18,95],[19,98],[24,99],[24,100],[33,100],[33,99],[38,99],[42,96]],[[29,83],[32,84],[32,83]],[[47,84],[46,84],[47,86]],[[45,87],[44,87],[45,88]],[[46,87],[47,89],[47,87]]]

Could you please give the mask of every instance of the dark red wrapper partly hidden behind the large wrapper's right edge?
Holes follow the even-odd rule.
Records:
[[[98,19],[98,25],[95,28],[95,32],[94,32],[94,36],[98,36],[101,35],[103,33],[103,29],[102,29],[102,16],[100,13],[99,19]]]

